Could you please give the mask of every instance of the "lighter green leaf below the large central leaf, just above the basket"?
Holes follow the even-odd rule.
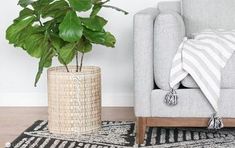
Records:
[[[69,64],[75,56],[75,43],[69,43],[59,50],[59,61],[61,64]]]

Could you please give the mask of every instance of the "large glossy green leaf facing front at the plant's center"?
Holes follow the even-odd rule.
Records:
[[[81,39],[83,27],[75,12],[67,12],[63,22],[59,25],[59,31],[60,37],[65,41],[75,42]]]

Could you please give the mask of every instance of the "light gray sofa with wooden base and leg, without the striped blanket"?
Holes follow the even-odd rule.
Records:
[[[234,0],[182,0],[160,2],[158,8],[134,16],[134,105],[139,144],[144,142],[147,126],[207,127],[213,109],[191,76],[177,87],[178,105],[164,103],[170,89],[171,62],[185,36],[208,28],[235,29],[234,7]],[[223,69],[221,89],[219,114],[226,127],[235,127],[235,55]]]

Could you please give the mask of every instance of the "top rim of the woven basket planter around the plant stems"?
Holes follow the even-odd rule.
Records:
[[[65,69],[65,66],[54,66],[54,67],[50,67],[47,69],[47,73],[50,74],[65,74],[65,75],[70,75],[70,74],[76,74],[76,75],[84,75],[84,74],[97,74],[101,72],[101,68],[98,66],[83,66],[82,69],[85,71],[79,71],[79,72],[74,72],[74,70],[76,69],[76,66],[71,65],[68,66],[69,70],[73,70],[70,72],[67,72]]]

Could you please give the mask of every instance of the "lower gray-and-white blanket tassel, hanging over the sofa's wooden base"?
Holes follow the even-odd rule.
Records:
[[[222,118],[217,116],[217,113],[214,113],[211,117],[211,119],[208,122],[208,129],[221,129],[224,127]]]

